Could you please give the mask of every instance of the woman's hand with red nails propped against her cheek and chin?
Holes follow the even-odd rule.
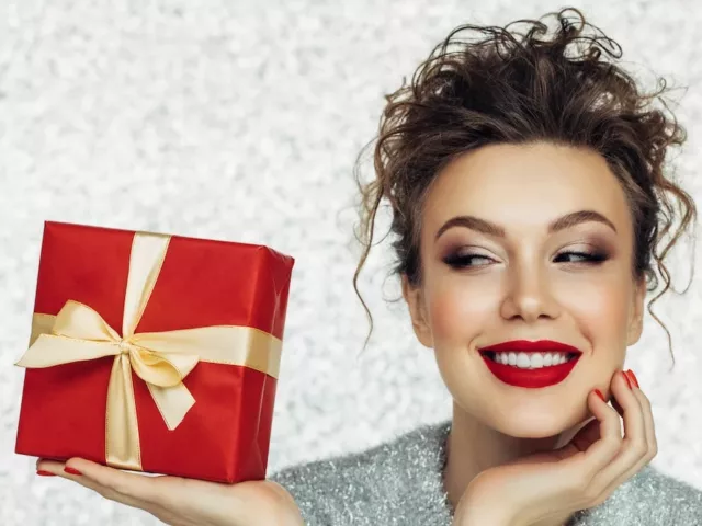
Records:
[[[595,419],[570,443],[478,474],[456,506],[454,525],[563,524],[578,510],[604,502],[657,453],[650,403],[635,377],[618,371],[611,391],[623,437],[618,411],[590,392]]]

